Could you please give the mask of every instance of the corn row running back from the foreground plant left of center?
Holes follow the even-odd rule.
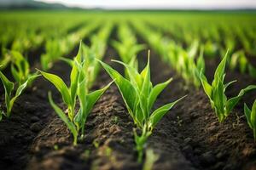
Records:
[[[111,23],[102,27],[96,35],[90,38],[90,47],[80,42],[79,53],[73,59],[63,59],[72,66],[70,73],[70,87],[63,82],[61,77],[40,71],[41,75],[55,85],[61,93],[62,100],[67,107],[67,115],[55,104],[49,92],[49,103],[54,108],[55,113],[65,122],[68,129],[73,133],[73,144],[78,143],[78,139],[84,138],[84,126],[90,111],[96,101],[108,89],[112,82],[102,89],[90,92],[90,87],[96,81],[99,71],[99,62],[107,48],[108,37],[113,25]],[[77,102],[77,100],[79,100]],[[76,111],[75,107],[79,105]]]

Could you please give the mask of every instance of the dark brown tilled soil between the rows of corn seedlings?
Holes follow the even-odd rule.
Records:
[[[110,62],[110,56],[117,56],[113,48],[108,48],[104,61],[122,71],[120,65]],[[139,56],[142,67],[147,51]],[[227,120],[220,124],[202,89],[184,89],[182,78],[163,63],[160,56],[154,52],[151,56],[154,84],[174,78],[154,108],[187,95],[164,116],[148,139],[147,148],[159,156],[154,169],[255,169],[256,144],[243,116],[243,101],[252,105],[256,94],[245,95]],[[210,79],[217,64],[215,60],[207,60]],[[67,64],[57,62],[50,72],[69,82],[69,71]],[[236,95],[237,89],[248,84],[255,84],[251,77],[237,72],[228,74],[226,80],[234,78],[238,82],[227,90],[228,96]],[[91,90],[102,88],[110,81],[102,70]],[[50,107],[48,91],[54,93],[55,103],[65,110],[55,88],[40,77],[17,100],[11,118],[0,122],[0,169],[143,168],[137,163],[134,149],[133,121],[114,84],[90,113],[85,124],[85,138],[79,140],[77,146],[73,146],[72,134]],[[1,97],[3,104],[3,95]]]

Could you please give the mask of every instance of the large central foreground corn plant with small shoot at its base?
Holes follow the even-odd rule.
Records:
[[[141,73],[131,65],[127,65],[117,60],[113,61],[125,66],[129,74],[129,79],[121,76],[119,72],[115,71],[111,66],[102,61],[99,62],[108,72],[109,76],[115,80],[114,82],[119,88],[119,92],[124,99],[130,116],[137,127],[142,131],[140,134],[134,131],[138,161],[142,162],[143,149],[154,127],[160,122],[160,119],[172,109],[172,106],[177,104],[177,102],[183,98],[177,99],[172,103],[163,105],[155,111],[152,111],[152,107],[158,95],[170,82],[172,82],[172,78],[153,87],[152,82],[150,81],[149,54],[148,64]]]

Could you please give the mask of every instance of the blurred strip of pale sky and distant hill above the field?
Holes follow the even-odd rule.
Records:
[[[1,0],[0,8],[253,9],[254,0]]]

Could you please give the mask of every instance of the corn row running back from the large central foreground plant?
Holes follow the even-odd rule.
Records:
[[[119,60],[113,60],[113,62],[125,67],[125,77],[110,65],[102,61],[99,62],[119,88],[127,111],[138,129],[138,132],[136,129],[134,130],[134,138],[138,153],[137,160],[142,162],[148,137],[153,133],[154,127],[172,109],[173,105],[183,98],[153,111],[155,100],[164,88],[172,82],[172,78],[153,86],[150,80],[149,52],[147,65],[143,71],[138,71],[137,53],[145,46],[137,44],[137,38],[126,23],[119,25],[118,36],[120,42],[113,42],[113,47],[116,48],[123,62]]]

